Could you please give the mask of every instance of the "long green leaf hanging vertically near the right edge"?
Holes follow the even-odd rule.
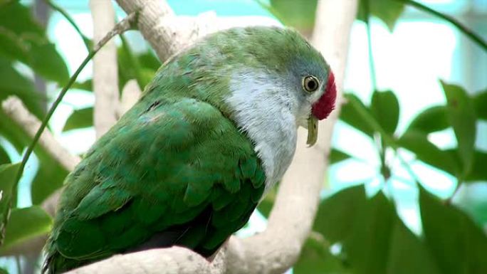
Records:
[[[473,100],[458,85],[449,85],[443,81],[441,81],[441,85],[446,96],[447,117],[454,128],[459,155],[464,163],[464,175],[466,175],[473,166],[475,150],[476,114]]]

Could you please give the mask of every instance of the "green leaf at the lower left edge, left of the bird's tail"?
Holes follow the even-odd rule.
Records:
[[[6,250],[29,238],[48,233],[52,223],[51,216],[40,206],[12,209],[6,226],[5,242],[1,249]]]

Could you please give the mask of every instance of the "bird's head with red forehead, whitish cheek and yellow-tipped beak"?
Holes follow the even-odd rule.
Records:
[[[261,130],[272,130],[268,127],[272,122],[306,127],[310,145],[317,139],[318,120],[335,107],[337,91],[330,65],[303,36],[288,28],[220,31],[174,62],[179,67],[188,63],[185,68],[192,75],[192,86],[204,90],[197,96],[240,120],[238,124]]]

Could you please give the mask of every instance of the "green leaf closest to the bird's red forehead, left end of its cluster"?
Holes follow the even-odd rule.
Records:
[[[373,119],[367,106],[365,106],[357,96],[351,93],[345,93],[344,96],[347,101],[342,105],[340,120],[372,137],[374,129],[372,125],[370,125],[370,122],[365,122],[364,117],[370,116],[369,120]]]

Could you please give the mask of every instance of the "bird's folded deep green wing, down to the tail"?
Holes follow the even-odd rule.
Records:
[[[248,138],[206,102],[149,105],[127,112],[66,179],[49,272],[174,244],[211,255],[248,221],[265,187]]]

